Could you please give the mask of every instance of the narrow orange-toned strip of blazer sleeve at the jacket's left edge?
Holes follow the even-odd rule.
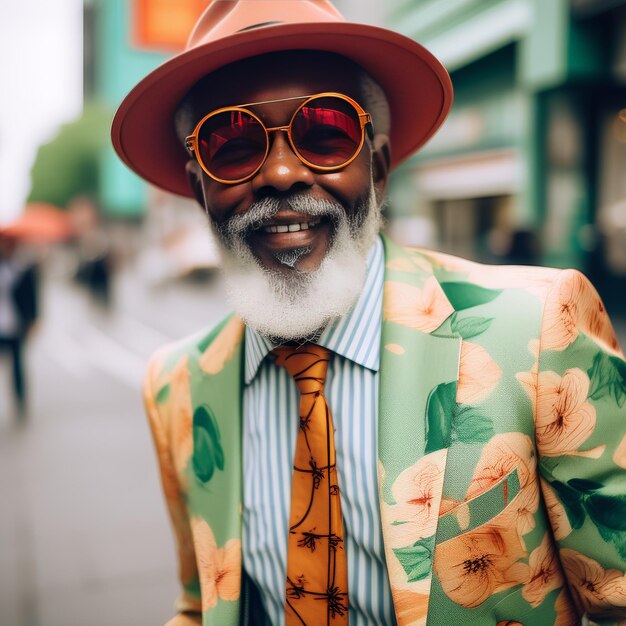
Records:
[[[161,477],[161,485],[174,529],[174,537],[178,553],[178,571],[182,591],[176,601],[178,615],[167,623],[167,626],[192,626],[202,623],[200,587],[196,555],[185,505],[184,488],[177,475],[172,458],[168,436],[166,407],[157,404],[158,389],[156,378],[162,359],[155,355],[148,366],[144,384],[144,402],[152,438],[156,448],[157,461]]]

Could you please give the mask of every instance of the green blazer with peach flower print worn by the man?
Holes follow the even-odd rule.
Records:
[[[380,509],[400,626],[626,619],[626,362],[573,270],[385,240]],[[178,547],[172,624],[246,623],[243,324],[159,351],[145,399]]]

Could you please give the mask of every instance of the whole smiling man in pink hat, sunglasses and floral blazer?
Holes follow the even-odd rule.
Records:
[[[451,93],[325,0],[214,0],[120,107],[118,153],[196,198],[235,311],[146,380],[170,624],[626,618],[626,363],[593,287],[379,236]]]

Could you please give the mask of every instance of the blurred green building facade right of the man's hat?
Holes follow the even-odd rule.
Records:
[[[392,231],[484,261],[626,274],[626,225],[616,225],[626,215],[626,2],[390,6],[388,25],[438,56],[455,88],[441,131],[395,175]]]

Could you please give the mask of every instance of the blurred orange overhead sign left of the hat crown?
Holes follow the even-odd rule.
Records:
[[[209,0],[131,0],[132,43],[138,48],[178,52]]]

